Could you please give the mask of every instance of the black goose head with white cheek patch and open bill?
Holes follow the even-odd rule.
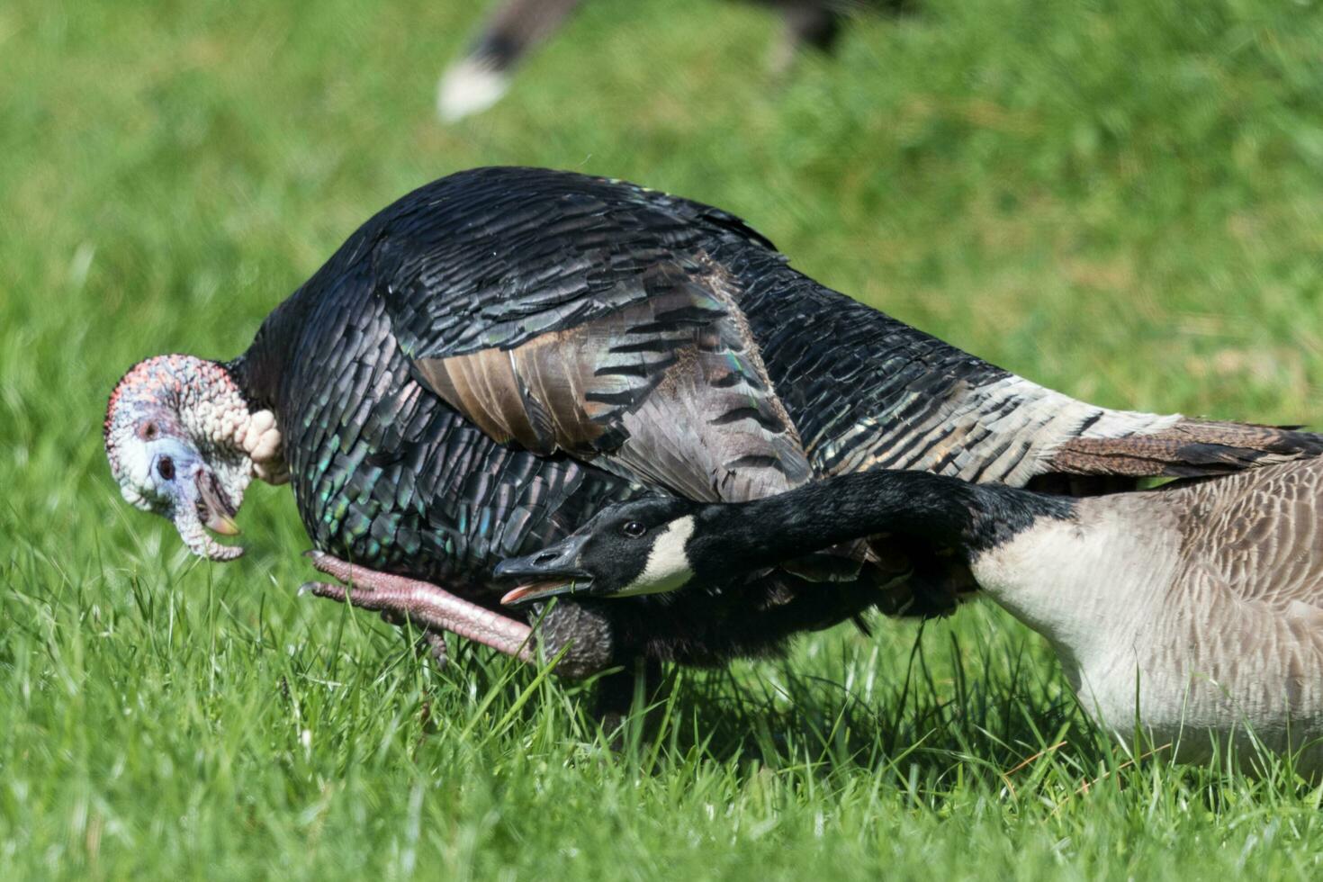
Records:
[[[644,499],[603,509],[560,542],[501,561],[496,575],[521,582],[501,603],[675,591],[695,577],[691,538],[703,508],[689,500]]]

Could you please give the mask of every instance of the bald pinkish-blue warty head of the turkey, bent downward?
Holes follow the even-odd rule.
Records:
[[[106,411],[106,458],[119,492],[168,518],[193,554],[243,553],[208,533],[234,536],[234,514],[258,463],[278,456],[270,411],[249,413],[224,365],[157,356],[124,374]]]

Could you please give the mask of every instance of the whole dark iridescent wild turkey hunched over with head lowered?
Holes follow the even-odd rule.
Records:
[[[528,660],[564,649],[558,670],[582,676],[769,653],[875,606],[943,610],[963,584],[877,540],[679,595],[561,602],[531,636],[503,615],[495,565],[610,502],[746,500],[884,467],[1094,492],[1323,439],[1094,407],[818,284],[725,212],[483,168],[369,220],[238,358],[132,368],[106,450],[124,497],[197,554],[235,557],[206,528],[232,530],[253,476],[287,477],[315,565],[343,578],[353,561],[355,604]]]

